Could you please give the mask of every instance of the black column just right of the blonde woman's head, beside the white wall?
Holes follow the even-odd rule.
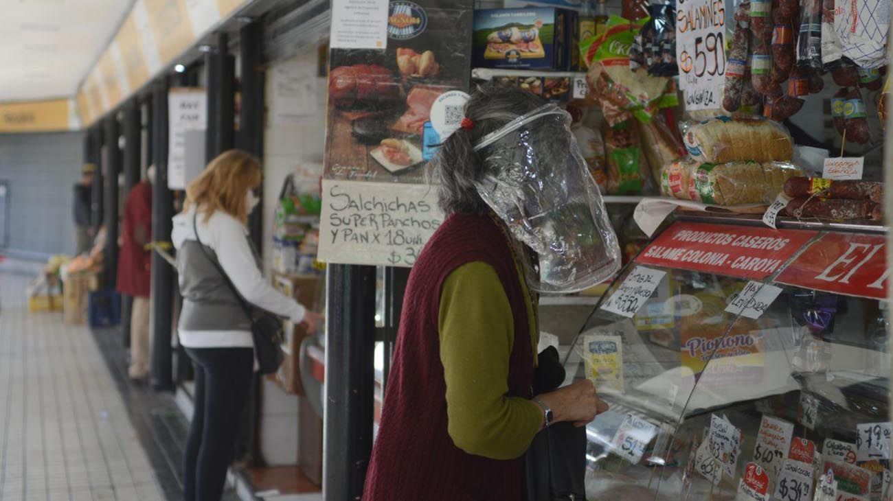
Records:
[[[239,30],[241,55],[241,110],[238,115],[237,147],[257,158],[263,157],[263,31],[261,23],[250,22]],[[263,165],[263,163],[261,164]],[[248,219],[255,248],[263,254],[263,190],[258,209]]]

